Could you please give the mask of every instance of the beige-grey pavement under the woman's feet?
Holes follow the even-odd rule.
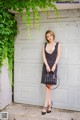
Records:
[[[8,120],[80,120],[78,111],[52,108],[51,113],[42,115],[41,110],[41,106],[12,103],[1,112],[8,112]]]

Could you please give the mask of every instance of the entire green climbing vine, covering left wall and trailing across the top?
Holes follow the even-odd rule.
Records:
[[[41,11],[54,9],[55,14],[58,15],[54,2],[56,0],[0,0],[0,70],[7,60],[10,76],[12,74],[14,39],[17,34],[17,22],[13,13],[20,13],[27,28],[29,28],[31,12],[36,25],[39,24],[40,19],[39,9]]]

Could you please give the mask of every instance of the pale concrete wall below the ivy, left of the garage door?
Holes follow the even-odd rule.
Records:
[[[2,67],[0,73],[0,110],[12,103],[12,89],[7,66]]]

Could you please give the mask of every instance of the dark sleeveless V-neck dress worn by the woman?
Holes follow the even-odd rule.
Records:
[[[56,42],[55,44],[55,47],[54,47],[54,50],[53,52],[50,54],[46,51],[46,45],[47,43],[45,43],[45,56],[46,56],[46,60],[47,60],[47,63],[50,67],[50,69],[52,68],[52,66],[54,65],[55,61],[56,61],[56,57],[57,57],[57,49],[58,49],[58,43],[59,42]],[[45,84],[44,80],[45,80],[45,74],[47,73],[47,70],[46,70],[46,66],[45,64],[43,63],[43,67],[42,67],[42,78],[41,78],[41,83],[42,84]],[[56,68],[55,68],[55,76],[56,76],[56,79],[57,79],[57,65],[56,65]]]

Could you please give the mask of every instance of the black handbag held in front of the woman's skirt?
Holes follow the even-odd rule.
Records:
[[[56,85],[57,84],[57,76],[55,72],[46,72],[44,83],[47,85]]]

